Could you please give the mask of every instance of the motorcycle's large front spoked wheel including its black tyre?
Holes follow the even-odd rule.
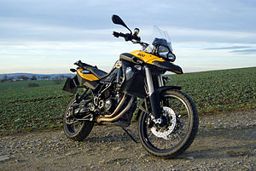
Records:
[[[177,157],[193,142],[198,129],[198,114],[187,94],[168,90],[161,94],[162,123],[156,124],[143,113],[138,133],[143,147],[156,157]]]

